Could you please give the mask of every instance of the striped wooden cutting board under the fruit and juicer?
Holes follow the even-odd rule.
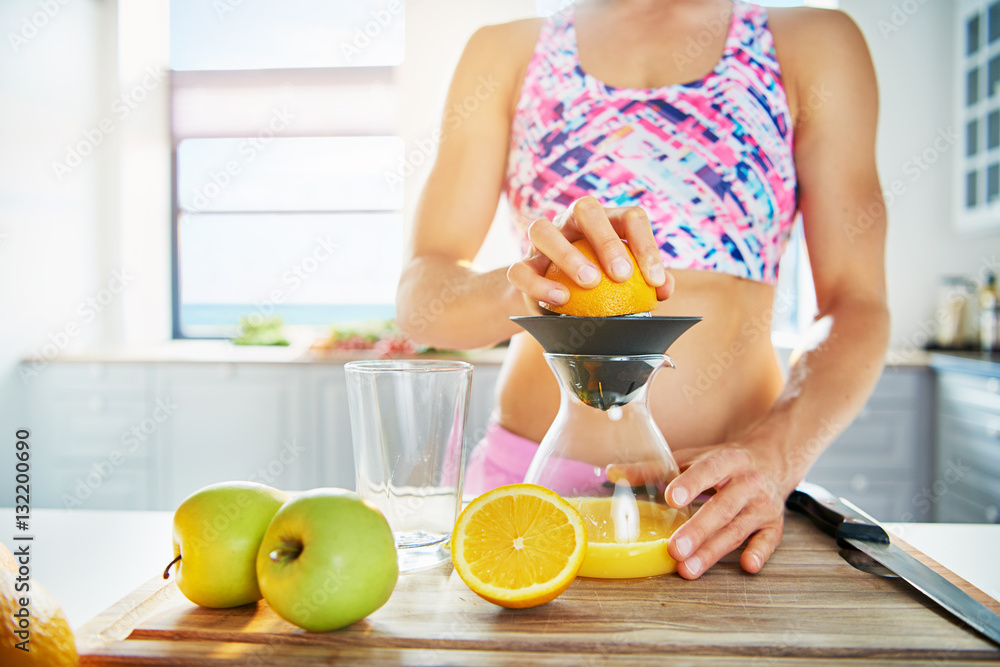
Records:
[[[901,544],[1000,611],[1000,603]],[[578,579],[541,607],[480,599],[451,564],[403,575],[389,602],[330,633],[304,632],[264,602],[204,609],[154,579],[77,634],[83,664],[590,664],[808,665],[995,662],[1000,650],[898,579],[855,570],[832,538],[799,515],[757,575],[731,554],[697,581]]]

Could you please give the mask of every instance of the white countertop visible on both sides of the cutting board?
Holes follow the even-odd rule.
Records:
[[[78,628],[163,572],[172,558],[172,512],[33,510],[31,576]],[[893,535],[1000,600],[1000,525],[886,524]],[[11,545],[14,512],[0,509],[0,541]],[[831,542],[831,548],[832,548]]]

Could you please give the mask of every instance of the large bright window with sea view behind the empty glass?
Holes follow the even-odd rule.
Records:
[[[173,0],[174,337],[390,318],[403,0]]]

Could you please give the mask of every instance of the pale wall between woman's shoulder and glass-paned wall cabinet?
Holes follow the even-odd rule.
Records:
[[[900,181],[905,188],[889,207],[892,342],[919,346],[924,328],[934,326],[939,278],[979,273],[984,259],[995,270],[1000,259],[1000,234],[962,237],[952,226],[952,157],[964,150],[964,132],[952,121],[955,3],[841,0],[840,5],[864,32],[875,62],[882,186]],[[919,9],[907,14],[904,5]],[[950,130],[961,139],[921,170],[913,157],[933,150],[939,133]]]

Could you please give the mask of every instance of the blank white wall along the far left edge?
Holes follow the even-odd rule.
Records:
[[[113,191],[103,175],[114,151],[102,141],[78,165],[66,155],[111,113],[114,2],[47,4],[51,15],[35,0],[0,3],[0,433],[8,438],[25,424],[14,374],[21,357],[94,344],[116,316],[113,300],[100,313],[86,305],[112,278],[104,267]]]

